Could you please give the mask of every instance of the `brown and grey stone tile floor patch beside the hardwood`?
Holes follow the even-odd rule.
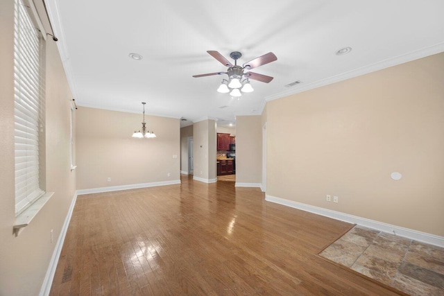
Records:
[[[410,295],[444,296],[444,248],[355,226],[320,254]]]

